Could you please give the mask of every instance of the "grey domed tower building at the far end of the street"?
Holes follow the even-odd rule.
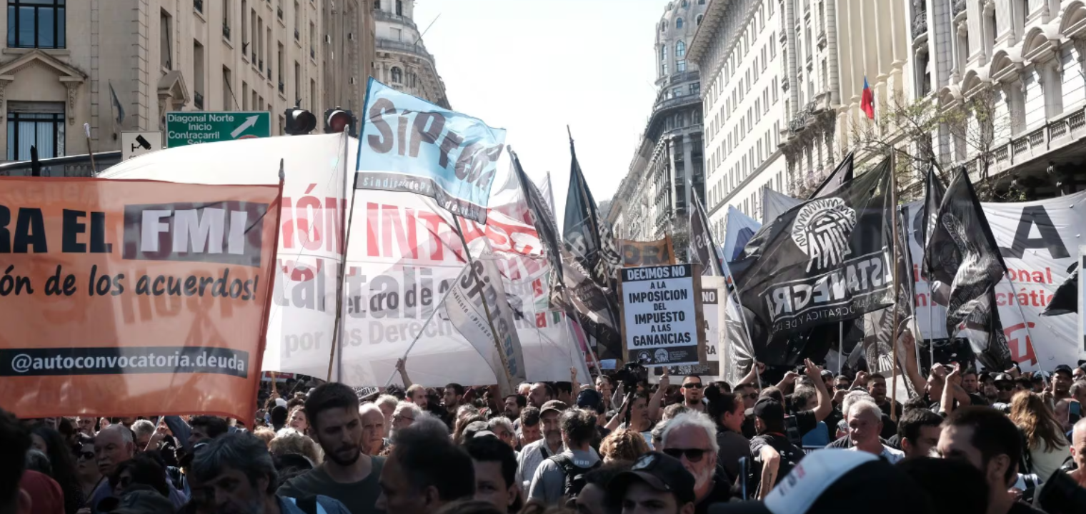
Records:
[[[687,52],[706,3],[670,1],[656,26],[656,101],[607,214],[616,236],[654,241],[668,234],[680,255],[695,195],[705,202],[702,80]]]

